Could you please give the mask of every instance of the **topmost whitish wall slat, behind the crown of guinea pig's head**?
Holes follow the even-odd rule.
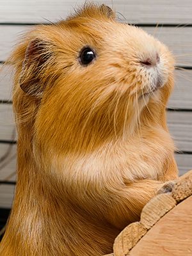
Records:
[[[1,0],[0,22],[46,22],[65,18],[84,0]],[[97,0],[122,13],[129,22],[189,23],[192,22],[191,0]]]

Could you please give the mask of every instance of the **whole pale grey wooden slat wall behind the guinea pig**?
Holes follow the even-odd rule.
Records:
[[[16,177],[12,74],[1,67],[18,38],[35,24],[65,19],[81,0],[0,0],[0,235],[12,207]],[[179,174],[192,169],[192,1],[111,0],[120,22],[142,27],[175,55],[175,90],[167,106],[168,127],[175,139]]]

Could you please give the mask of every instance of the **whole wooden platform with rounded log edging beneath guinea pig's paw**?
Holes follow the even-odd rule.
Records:
[[[176,180],[172,193],[145,205],[141,220],[116,237],[113,251],[110,256],[192,255],[192,170]]]

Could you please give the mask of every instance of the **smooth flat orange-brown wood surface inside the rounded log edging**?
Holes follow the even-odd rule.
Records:
[[[191,211],[192,196],[189,196],[164,215],[132,248],[129,255],[191,256]]]

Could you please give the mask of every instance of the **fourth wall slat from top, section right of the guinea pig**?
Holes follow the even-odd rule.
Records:
[[[192,152],[192,111],[168,111],[167,118],[177,148]]]

